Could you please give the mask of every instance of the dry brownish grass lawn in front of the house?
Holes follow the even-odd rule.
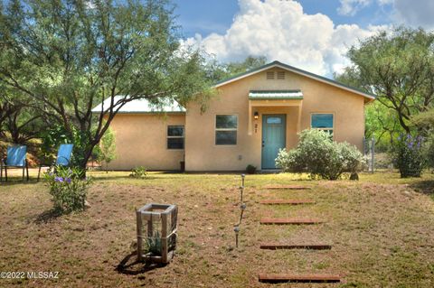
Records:
[[[34,172],[33,172],[34,173]],[[397,173],[361,181],[248,175],[241,244],[234,249],[241,177],[235,174],[90,172],[90,209],[50,217],[43,182],[0,183],[0,272],[58,271],[59,279],[0,279],[0,287],[433,287],[434,176]],[[34,174],[32,175],[34,179]],[[266,190],[297,184],[312,190]],[[270,206],[260,200],[312,199]],[[178,247],[164,267],[135,264],[135,208],[179,206]],[[263,217],[322,218],[315,226],[260,226]],[[259,250],[265,241],[327,243],[331,250]],[[119,268],[120,264],[125,264]],[[259,273],[341,274],[344,283],[259,283]]]

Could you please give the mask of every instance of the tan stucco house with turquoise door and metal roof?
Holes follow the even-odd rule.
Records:
[[[111,169],[179,170],[181,162],[190,172],[242,171],[248,164],[276,169],[278,150],[294,147],[307,128],[362,150],[364,106],[375,99],[278,61],[215,88],[218,95],[204,113],[195,103],[156,109],[146,100],[120,109],[111,124],[118,156]],[[100,105],[93,109],[100,111]]]

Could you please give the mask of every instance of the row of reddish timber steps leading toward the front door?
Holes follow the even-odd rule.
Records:
[[[269,190],[310,190],[310,187],[297,185],[269,185]],[[315,204],[314,200],[262,200],[260,204],[265,205],[301,205]],[[261,218],[260,224],[265,225],[313,225],[321,224],[325,221],[317,218]],[[331,245],[326,244],[279,244],[263,243],[260,249],[331,249]],[[339,283],[341,277],[336,274],[259,274],[259,282],[263,283]]]

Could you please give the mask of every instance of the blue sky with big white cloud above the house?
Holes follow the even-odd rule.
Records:
[[[396,25],[434,28],[434,0],[174,0],[183,45],[221,62],[266,56],[326,77],[345,53]]]

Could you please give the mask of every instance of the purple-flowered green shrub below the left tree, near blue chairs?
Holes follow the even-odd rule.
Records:
[[[83,178],[79,168],[58,166],[54,172],[45,173],[45,180],[50,188],[54,210],[69,213],[84,210],[90,178]]]

